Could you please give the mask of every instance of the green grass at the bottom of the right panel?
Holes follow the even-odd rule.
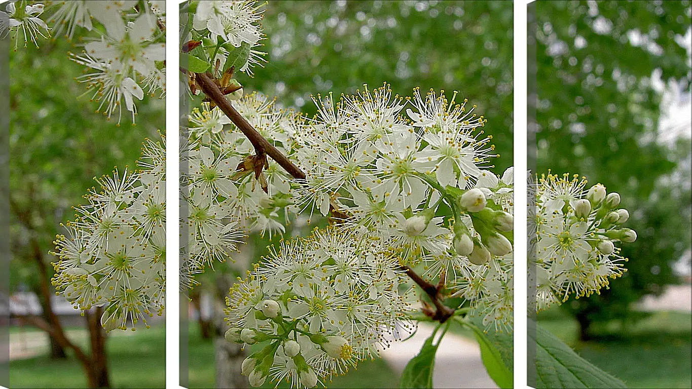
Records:
[[[655,312],[630,325],[599,328],[588,342],[577,339],[578,325],[562,310],[539,314],[544,328],[571,345],[584,359],[621,379],[629,388],[692,387],[692,315]]]

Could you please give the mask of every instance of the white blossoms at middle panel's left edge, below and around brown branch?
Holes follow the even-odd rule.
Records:
[[[232,104],[278,149],[290,151],[291,111],[277,109],[259,93]],[[246,232],[283,233],[291,205],[289,175],[276,164],[257,174],[255,165],[261,161],[251,156],[251,142],[218,107],[203,102],[201,109],[193,108],[187,131],[188,142],[181,149],[186,207],[181,212],[181,276],[189,281],[181,284],[183,291],[194,285],[192,275],[232,259]]]

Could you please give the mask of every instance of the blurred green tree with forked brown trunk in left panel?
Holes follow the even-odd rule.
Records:
[[[163,129],[165,104],[158,99],[138,104],[136,126],[108,122],[94,113],[93,92],[84,93],[84,84],[75,80],[83,67],[69,60],[69,50],[80,48],[57,39],[10,55],[10,287],[38,296],[42,317],[21,319],[51,336],[53,356],[64,357],[70,349],[89,385],[101,386],[107,372],[99,370],[107,364],[100,310],[86,314],[92,349],[82,350],[67,338],[51,307],[56,258],[48,252],[55,248],[55,235],[64,233],[60,223],[74,218],[71,207],[96,185],[94,177],[110,175],[116,165],[136,167],[145,137],[156,139]]]

